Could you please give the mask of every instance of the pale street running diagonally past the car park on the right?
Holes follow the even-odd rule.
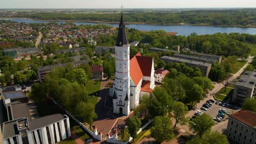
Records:
[[[253,57],[249,57],[249,58],[248,58],[248,62],[247,62],[245,65],[243,65],[243,67],[242,67],[240,70],[238,70],[236,74],[234,74],[234,75],[232,75],[232,76],[230,77],[231,81],[233,81],[234,79],[236,79],[237,76],[241,75],[242,72],[245,70],[245,68],[246,68],[246,67],[249,65],[249,63],[251,63],[252,61],[253,61]],[[223,86],[222,83],[215,83],[215,84],[214,84],[214,88],[212,89],[212,91],[210,91],[210,92],[207,94],[207,98],[201,100],[200,103],[197,104],[196,109],[189,111],[185,117],[192,117],[192,116],[194,115],[195,111],[200,110],[200,107],[202,107],[202,105],[205,104],[207,100],[209,100],[209,99],[214,99],[214,98],[213,98],[213,95],[211,95],[211,94],[218,93],[219,90],[222,89],[223,87],[224,87],[224,86]],[[173,120],[172,122],[174,123],[174,120]],[[180,125],[180,124],[177,124],[177,127],[178,127],[178,128],[181,128],[181,129],[184,129],[185,131],[187,131],[187,132],[190,133],[190,134],[193,134],[192,131],[189,130],[188,125]]]

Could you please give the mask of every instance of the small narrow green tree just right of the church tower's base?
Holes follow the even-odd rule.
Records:
[[[128,131],[131,135],[132,142],[134,142],[134,139],[137,137],[137,131],[141,128],[141,119],[139,119],[137,116],[133,116],[128,119]]]

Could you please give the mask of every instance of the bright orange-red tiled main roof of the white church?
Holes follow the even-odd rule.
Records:
[[[143,76],[151,76],[153,57],[141,56],[137,53],[130,59],[130,76],[137,86]]]

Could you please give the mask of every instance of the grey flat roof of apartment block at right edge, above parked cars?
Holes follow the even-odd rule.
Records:
[[[240,79],[235,83],[235,86],[254,88],[256,84],[256,69],[254,71],[245,71]]]

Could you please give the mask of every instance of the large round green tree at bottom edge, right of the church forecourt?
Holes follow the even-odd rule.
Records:
[[[172,121],[167,116],[158,116],[154,118],[153,127],[150,129],[151,136],[158,142],[170,141],[174,139],[172,131]]]

